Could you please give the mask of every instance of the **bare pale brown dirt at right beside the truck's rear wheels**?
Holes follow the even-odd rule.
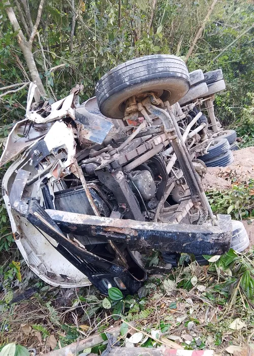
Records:
[[[202,181],[204,189],[230,189],[232,180],[235,183],[247,183],[254,179],[254,147],[246,147],[233,152],[235,161],[228,167],[207,168]],[[254,245],[254,221],[244,220],[243,224],[248,232],[250,246]]]

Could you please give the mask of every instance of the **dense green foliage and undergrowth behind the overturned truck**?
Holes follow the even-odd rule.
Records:
[[[24,23],[17,8],[17,4],[22,3],[11,1],[25,34]],[[121,2],[119,18],[118,2],[46,1],[38,27],[39,36],[35,38],[32,48],[46,91],[50,96],[61,98],[77,82],[82,82],[85,99],[94,94],[94,84],[105,72],[135,56],[170,53],[184,57],[211,3],[211,0],[124,0]],[[27,0],[27,4],[35,23],[39,0]],[[74,11],[72,4],[75,5]],[[30,79],[5,6],[5,2],[0,3],[1,86]],[[227,124],[242,124],[244,120],[244,124],[248,125],[252,120],[252,112],[248,110],[253,106],[251,101],[254,92],[254,28],[250,28],[253,10],[250,1],[217,2],[187,62],[189,70],[223,69],[227,91],[217,96],[217,115]],[[245,35],[216,58],[221,50],[248,28]],[[0,98],[2,125],[20,120],[23,116],[26,92],[24,88]]]

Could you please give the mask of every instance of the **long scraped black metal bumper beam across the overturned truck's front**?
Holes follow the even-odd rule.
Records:
[[[120,220],[56,210],[45,213],[62,231],[73,233],[75,229],[78,235],[102,236],[106,240],[124,242],[134,249],[143,246],[194,254],[223,254],[230,248],[232,238],[228,215],[217,215],[214,225],[202,226]]]

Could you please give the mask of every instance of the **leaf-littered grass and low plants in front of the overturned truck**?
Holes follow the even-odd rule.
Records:
[[[21,263],[21,276],[23,269],[26,267]],[[244,284],[246,271],[249,279]],[[173,338],[185,349],[212,348],[223,353],[231,344],[241,346],[248,338],[252,340],[254,301],[247,282],[253,281],[253,272],[252,249],[245,254],[230,251],[209,266],[201,267],[194,261],[169,275],[150,277],[143,298],[108,297],[110,309],[105,309],[104,297],[94,287],[67,292],[43,287],[32,279],[30,285],[40,283],[40,294],[15,304],[2,302],[0,343],[16,342],[46,352],[52,335],[58,348],[101,333],[121,320],[135,320],[135,328],[144,333],[142,346],[155,347],[160,342],[154,339],[167,342]],[[243,325],[239,330],[234,328],[236,319]]]

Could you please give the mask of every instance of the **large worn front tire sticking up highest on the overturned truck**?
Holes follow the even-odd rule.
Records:
[[[124,101],[146,92],[157,92],[176,103],[189,90],[189,74],[181,58],[168,54],[147,55],[123,63],[106,73],[96,85],[101,112],[111,118],[124,117]]]

